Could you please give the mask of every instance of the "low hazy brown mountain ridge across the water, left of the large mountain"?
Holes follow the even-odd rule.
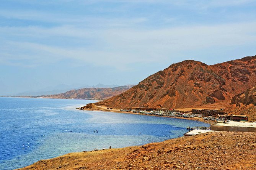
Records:
[[[129,86],[119,86],[113,88],[81,88],[78,90],[70,90],[65,93],[60,93],[57,95],[47,95],[47,96],[37,96],[42,98],[73,98],[73,99],[107,99],[113,96],[119,95],[120,93],[128,90],[133,85]]]

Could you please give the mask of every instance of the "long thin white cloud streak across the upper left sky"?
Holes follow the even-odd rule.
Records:
[[[101,17],[91,16],[86,14],[67,14],[67,13],[47,13],[42,11],[33,10],[0,10],[0,16],[7,19],[21,19],[36,22],[47,22],[52,24],[65,25],[77,25],[86,26],[89,28],[102,28],[102,27],[124,27],[139,24],[147,21],[147,18],[122,18],[122,17]]]

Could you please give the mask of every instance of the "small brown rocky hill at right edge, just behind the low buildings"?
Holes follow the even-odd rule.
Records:
[[[247,115],[249,120],[256,120],[256,86],[231,99],[230,106],[225,109],[228,114]]]

